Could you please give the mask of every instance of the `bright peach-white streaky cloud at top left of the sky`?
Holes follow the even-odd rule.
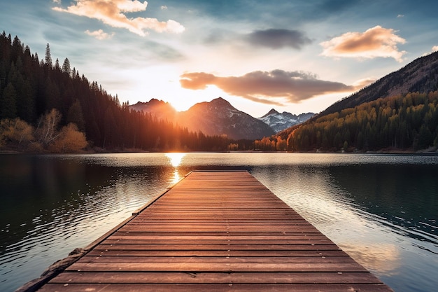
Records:
[[[125,13],[146,11],[148,2],[141,3],[138,0],[75,0],[66,9],[61,7],[52,8],[54,11],[71,13],[87,18],[94,18],[104,22],[111,27],[128,29],[129,32],[146,36],[148,30],[155,32],[181,33],[184,31],[183,25],[174,21],[160,22],[157,18],[128,18]]]

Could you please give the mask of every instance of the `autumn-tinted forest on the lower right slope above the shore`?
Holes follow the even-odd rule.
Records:
[[[438,146],[438,92],[376,99],[255,141],[264,151],[376,151]]]

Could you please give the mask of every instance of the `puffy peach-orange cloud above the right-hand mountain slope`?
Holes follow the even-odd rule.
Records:
[[[347,32],[320,45],[324,48],[321,55],[327,57],[392,57],[397,62],[402,62],[402,56],[406,52],[399,51],[397,43],[406,43],[406,40],[397,36],[394,29],[377,25],[362,33]]]

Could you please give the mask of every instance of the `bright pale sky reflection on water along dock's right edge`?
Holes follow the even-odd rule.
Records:
[[[379,222],[358,215],[358,204],[330,168],[280,165],[257,167],[253,175],[367,269],[397,274],[400,252]],[[284,183],[284,177],[290,183]],[[382,236],[383,235],[383,236]]]

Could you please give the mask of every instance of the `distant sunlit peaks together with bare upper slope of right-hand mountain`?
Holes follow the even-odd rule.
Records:
[[[379,98],[406,95],[408,92],[433,92],[438,89],[438,52],[419,57],[405,67],[383,76],[376,82],[362,88],[349,97],[332,104],[317,115],[314,113],[279,113],[271,109],[260,118],[253,118],[235,109],[221,97],[211,102],[195,104],[188,111],[178,112],[171,104],[157,99],[138,102],[131,109],[151,113],[159,119],[166,119],[191,131],[204,134],[226,136],[231,139],[261,139],[280,133],[288,137],[290,129],[307,120],[316,120],[343,109],[353,109],[360,104],[373,102]],[[282,133],[286,131],[285,133]],[[418,133],[419,129],[416,130]],[[431,129],[431,132],[434,132]]]

